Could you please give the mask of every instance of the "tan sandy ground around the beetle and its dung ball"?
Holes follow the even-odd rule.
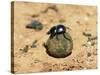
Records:
[[[90,33],[97,37],[96,19],[97,8],[95,6],[62,5],[57,4],[58,11],[48,9],[55,4],[14,2],[14,72],[48,72],[68,71],[97,68],[97,40],[87,42]],[[38,15],[38,16],[34,16]],[[43,24],[41,31],[27,29],[25,26],[32,20],[38,20]],[[72,54],[66,58],[54,58],[46,53],[43,43],[49,35],[50,27],[61,23],[68,30],[73,39]],[[21,51],[26,45],[31,45],[37,40],[36,48],[29,48],[27,52]],[[92,42],[95,44],[91,45]]]

